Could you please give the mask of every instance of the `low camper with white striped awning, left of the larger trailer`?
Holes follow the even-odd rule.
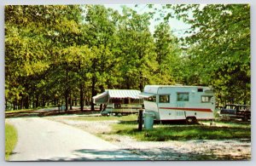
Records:
[[[141,91],[132,89],[107,89],[93,97],[93,103],[102,105],[102,115],[137,113],[143,108]]]

